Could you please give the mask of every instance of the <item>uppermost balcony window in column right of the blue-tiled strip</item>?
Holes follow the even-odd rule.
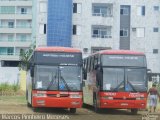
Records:
[[[93,4],[92,5],[92,15],[111,17],[112,16],[112,5],[110,4]]]

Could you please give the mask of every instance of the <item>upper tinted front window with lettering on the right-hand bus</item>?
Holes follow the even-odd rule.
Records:
[[[145,56],[102,55],[103,66],[139,66],[146,67]]]

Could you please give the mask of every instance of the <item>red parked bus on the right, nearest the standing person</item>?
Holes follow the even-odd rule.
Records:
[[[147,64],[141,52],[104,50],[83,61],[83,102],[100,108],[138,109],[147,104]]]

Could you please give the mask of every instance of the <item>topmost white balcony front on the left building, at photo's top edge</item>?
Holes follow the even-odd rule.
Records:
[[[0,0],[1,6],[32,6],[32,0]]]

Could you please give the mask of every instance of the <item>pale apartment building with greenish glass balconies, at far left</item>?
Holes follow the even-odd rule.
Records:
[[[32,0],[0,0],[0,61],[2,67],[16,67],[20,50],[34,40]]]

